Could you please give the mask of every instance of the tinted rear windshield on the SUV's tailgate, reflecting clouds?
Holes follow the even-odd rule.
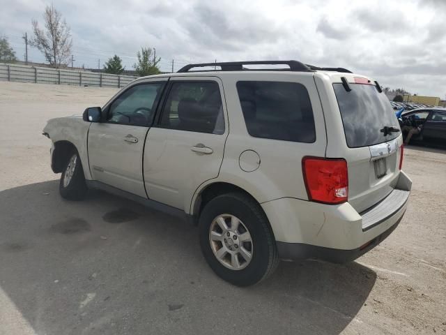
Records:
[[[374,85],[349,85],[351,91],[346,91],[342,84],[333,84],[348,147],[367,147],[398,137],[399,132],[384,136],[380,131],[384,126],[399,129],[387,96],[379,93]]]

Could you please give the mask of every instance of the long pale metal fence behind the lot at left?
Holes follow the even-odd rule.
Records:
[[[109,75],[79,70],[39,68],[17,64],[0,63],[0,81],[35,82],[40,84],[63,84],[93,87],[124,87],[137,77]]]

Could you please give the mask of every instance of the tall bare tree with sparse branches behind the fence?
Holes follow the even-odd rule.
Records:
[[[34,37],[30,44],[45,55],[45,59],[59,68],[66,64],[71,54],[72,38],[70,27],[62,20],[61,13],[53,5],[46,6],[43,13],[45,29],[40,29],[37,20],[33,20]]]

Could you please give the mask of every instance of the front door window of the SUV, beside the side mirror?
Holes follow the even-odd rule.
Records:
[[[110,105],[108,121],[117,124],[148,126],[151,124],[155,101],[164,82],[139,84],[125,91]]]

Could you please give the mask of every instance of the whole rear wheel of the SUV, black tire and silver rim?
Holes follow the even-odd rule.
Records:
[[[234,285],[259,283],[277,267],[268,218],[243,193],[219,195],[206,204],[199,218],[199,238],[208,265]]]

